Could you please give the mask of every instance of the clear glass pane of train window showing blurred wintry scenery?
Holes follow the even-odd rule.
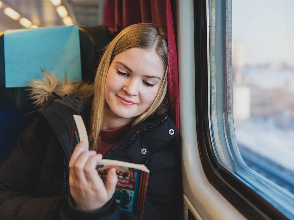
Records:
[[[233,114],[248,167],[294,194],[294,1],[232,1]]]

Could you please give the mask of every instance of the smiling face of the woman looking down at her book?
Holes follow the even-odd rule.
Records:
[[[165,69],[156,52],[131,48],[116,55],[105,82],[106,114],[131,123],[155,99]]]

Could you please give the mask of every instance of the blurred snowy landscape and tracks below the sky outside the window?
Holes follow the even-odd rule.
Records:
[[[234,106],[240,153],[250,168],[294,194],[294,69],[245,66],[241,72],[250,116],[235,118]]]

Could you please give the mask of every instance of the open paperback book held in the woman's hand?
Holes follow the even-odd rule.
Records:
[[[71,136],[71,153],[78,142],[84,141],[88,146],[88,135],[83,119],[73,115],[73,129]],[[103,182],[106,182],[108,170],[116,168],[118,182],[114,192],[117,208],[121,213],[141,218],[146,197],[149,170],[143,164],[128,163],[119,160],[102,159],[96,169]]]

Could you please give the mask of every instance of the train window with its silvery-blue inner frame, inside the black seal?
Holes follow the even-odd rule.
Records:
[[[294,2],[208,1],[208,111],[218,163],[294,218]]]

